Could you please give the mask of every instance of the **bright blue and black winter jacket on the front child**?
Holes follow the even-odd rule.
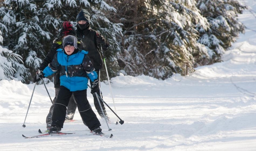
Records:
[[[87,74],[94,71],[87,51],[75,49],[74,52],[67,55],[63,49],[57,49],[52,63],[43,70],[45,77],[60,70],[60,85],[72,92],[87,89]]]

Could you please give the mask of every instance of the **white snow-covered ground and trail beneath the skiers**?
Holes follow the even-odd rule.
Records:
[[[242,2],[256,10],[256,0]],[[249,11],[239,19],[256,30],[256,18]],[[23,128],[34,84],[2,80],[0,151],[255,151],[255,35],[247,29],[223,62],[199,67],[185,77],[177,74],[164,81],[148,76],[112,78],[117,114],[124,124],[109,124],[112,131],[108,131],[100,119],[103,132],[114,135],[111,139],[90,135],[78,112],[77,121],[64,123],[62,129],[75,134],[24,139],[22,134],[45,130],[51,101],[44,86],[37,85]],[[53,84],[46,87],[53,99]],[[109,86],[102,82],[101,87],[104,100],[114,110]],[[88,100],[96,112],[91,94]]]

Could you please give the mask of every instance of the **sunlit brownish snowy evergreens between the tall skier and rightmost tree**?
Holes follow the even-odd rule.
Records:
[[[207,30],[209,25],[194,0],[131,0],[113,5],[118,12],[112,18],[124,24],[118,61],[125,74],[166,79],[173,72],[193,72],[193,54],[207,55],[196,41],[196,28]]]

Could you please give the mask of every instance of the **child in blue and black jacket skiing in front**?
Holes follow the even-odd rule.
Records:
[[[69,98],[75,97],[81,118],[91,131],[102,134],[101,124],[93,112],[88,100],[87,76],[91,81],[97,79],[87,51],[77,48],[77,38],[69,35],[63,39],[63,49],[58,49],[52,63],[43,71],[39,71],[39,78],[45,78],[60,70],[60,91],[55,102],[50,132],[58,132],[63,128]]]

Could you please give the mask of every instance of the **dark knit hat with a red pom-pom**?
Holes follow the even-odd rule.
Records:
[[[62,39],[64,36],[68,35],[76,36],[76,29],[69,21],[64,21],[58,37]]]

